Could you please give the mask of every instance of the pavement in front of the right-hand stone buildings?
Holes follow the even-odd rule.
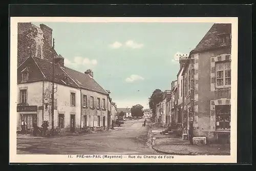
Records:
[[[152,136],[156,138],[152,147],[157,152],[172,155],[230,155],[228,144],[192,145],[182,137],[161,135],[161,131],[152,126]]]

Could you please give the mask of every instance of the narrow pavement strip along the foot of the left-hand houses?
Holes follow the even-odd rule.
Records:
[[[114,130],[106,130],[106,131],[93,131],[93,132],[80,132],[80,133],[62,133],[60,136],[49,136],[49,137],[41,137],[41,136],[37,136],[34,137],[31,134],[17,134],[17,138],[16,139],[41,139],[41,138],[55,138],[55,137],[65,137],[65,136],[79,136],[79,135],[87,135],[87,134],[96,134],[96,133],[104,133],[104,132],[112,132],[112,131],[118,131],[118,130],[122,130],[123,127],[114,127]]]

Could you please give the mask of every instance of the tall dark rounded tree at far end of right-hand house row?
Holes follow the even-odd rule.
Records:
[[[153,118],[156,117],[156,104],[162,101],[163,92],[160,89],[156,89],[149,98],[150,109],[152,110]]]

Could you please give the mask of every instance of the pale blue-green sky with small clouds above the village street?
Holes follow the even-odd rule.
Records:
[[[37,26],[41,23],[33,23]],[[177,79],[177,54],[189,54],[213,23],[44,23],[65,66],[94,79],[117,108],[141,104]]]

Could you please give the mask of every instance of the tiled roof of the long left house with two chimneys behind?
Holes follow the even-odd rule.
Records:
[[[93,78],[89,75],[75,71],[68,67],[64,67],[65,71],[77,84],[79,87],[95,91],[102,94],[108,94]]]

